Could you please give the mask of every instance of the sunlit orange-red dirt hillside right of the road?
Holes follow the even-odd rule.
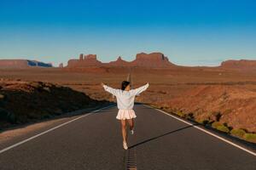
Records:
[[[217,121],[233,128],[256,132],[255,91],[241,87],[202,85],[160,103],[174,112],[192,114],[198,122]]]

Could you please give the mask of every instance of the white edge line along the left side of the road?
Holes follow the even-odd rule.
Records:
[[[3,152],[5,152],[5,151],[7,151],[7,150],[10,150],[10,149],[15,148],[15,147],[19,146],[20,144],[24,144],[24,143],[28,142],[29,140],[38,138],[39,136],[42,136],[42,135],[45,134],[45,133],[49,133],[50,131],[53,131],[53,130],[55,130],[56,128],[63,127],[64,125],[67,125],[67,124],[70,123],[70,122],[77,121],[77,120],[79,120],[80,118],[82,118],[82,117],[84,117],[84,116],[90,116],[91,114],[96,113],[97,111],[101,111],[101,110],[106,109],[106,108],[111,107],[111,106],[112,106],[112,105],[108,105],[108,106],[102,107],[101,109],[98,109],[98,110],[96,110],[96,111],[90,111],[89,113],[87,113],[87,114],[85,114],[85,115],[83,115],[83,116],[79,116],[79,117],[77,117],[77,118],[74,118],[74,119],[71,120],[71,121],[64,122],[64,123],[62,123],[61,125],[58,125],[58,126],[56,126],[56,127],[52,127],[52,128],[50,128],[49,130],[46,130],[46,131],[44,131],[44,132],[42,132],[42,133],[38,133],[37,135],[34,135],[34,136],[32,136],[32,137],[30,137],[30,138],[28,138],[28,139],[24,139],[24,140],[22,140],[22,141],[20,141],[20,142],[18,142],[18,143],[16,143],[16,144],[12,144],[12,145],[10,145],[9,147],[4,148],[3,150],[0,150],[0,154],[2,154]]]

